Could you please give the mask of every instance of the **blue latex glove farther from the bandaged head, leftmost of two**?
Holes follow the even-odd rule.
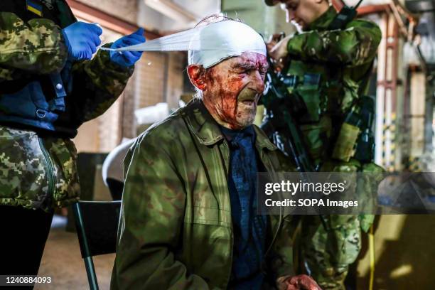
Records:
[[[101,44],[102,29],[96,24],[78,21],[63,28],[62,32],[68,47],[68,57],[73,60],[90,60]]]

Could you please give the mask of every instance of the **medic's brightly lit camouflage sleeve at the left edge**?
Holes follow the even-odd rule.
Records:
[[[68,50],[59,26],[48,19],[24,23],[11,12],[0,12],[0,82],[20,77],[18,70],[53,73],[65,65]]]

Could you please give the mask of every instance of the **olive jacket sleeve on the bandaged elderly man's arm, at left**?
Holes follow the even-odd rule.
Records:
[[[181,239],[186,193],[162,145],[166,140],[154,132],[139,137],[124,161],[129,167],[111,289],[208,289],[173,252]]]

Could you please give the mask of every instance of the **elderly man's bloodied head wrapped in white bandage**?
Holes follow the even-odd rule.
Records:
[[[268,66],[262,37],[227,20],[203,26],[191,44],[188,75],[208,112],[229,129],[251,125]]]

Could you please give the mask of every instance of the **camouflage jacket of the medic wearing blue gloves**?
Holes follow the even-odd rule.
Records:
[[[14,13],[0,11],[2,90],[32,75],[58,72],[65,63],[67,49],[56,23],[37,16],[25,22]],[[65,126],[77,129],[117,100],[134,68],[119,67],[102,50],[90,61],[70,64],[74,82],[70,82],[66,112],[60,119]],[[73,203],[80,193],[76,157],[68,138],[0,126],[0,204],[48,211]]]

